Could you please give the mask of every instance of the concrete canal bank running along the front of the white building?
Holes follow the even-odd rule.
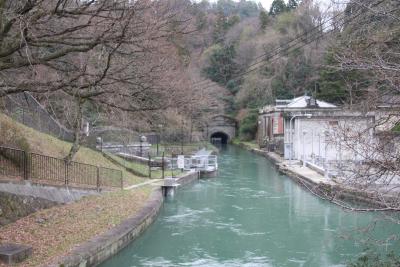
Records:
[[[336,179],[325,177],[312,168],[289,164],[288,161],[284,160],[277,153],[250,147],[245,143],[240,142],[236,145],[254,154],[267,158],[275,165],[280,173],[287,175],[315,196],[339,205],[344,209],[359,211],[390,211],[390,208],[386,208],[387,205],[398,201],[398,197],[396,196],[378,196],[373,192],[363,191],[351,186],[340,184]],[[358,207],[355,208],[351,204],[356,204]],[[359,205],[367,205],[367,207],[361,208]]]

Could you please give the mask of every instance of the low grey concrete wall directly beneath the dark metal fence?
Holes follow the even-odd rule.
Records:
[[[49,185],[35,184],[31,182],[0,181],[0,192],[20,196],[37,197],[57,203],[69,203],[84,196],[99,194],[96,190],[83,190]]]

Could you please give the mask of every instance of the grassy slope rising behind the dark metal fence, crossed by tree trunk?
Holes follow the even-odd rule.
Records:
[[[8,130],[12,131],[0,131],[0,139],[10,139],[10,135],[12,134],[12,139],[19,140],[18,143],[27,143],[29,145],[29,150],[34,153],[39,153],[56,158],[63,158],[68,154],[68,151],[71,147],[71,143],[64,142],[51,135],[44,134],[32,128],[26,127],[25,125],[22,125],[12,120],[10,117],[0,113],[0,128],[3,127],[8,128]],[[18,146],[18,143],[11,146]],[[26,149],[26,147],[20,148]],[[75,155],[74,161],[122,170],[126,184],[136,184],[139,182],[143,182],[142,178],[125,171],[123,167],[112,163],[101,153],[87,147],[81,147],[81,149]]]

